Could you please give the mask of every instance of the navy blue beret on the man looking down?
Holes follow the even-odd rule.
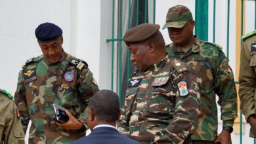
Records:
[[[35,29],[35,37],[41,43],[49,43],[62,35],[62,29],[55,24],[46,22]]]

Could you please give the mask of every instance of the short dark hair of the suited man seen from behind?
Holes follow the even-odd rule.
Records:
[[[89,101],[88,107],[99,122],[116,122],[119,117],[119,98],[111,90],[96,92]]]

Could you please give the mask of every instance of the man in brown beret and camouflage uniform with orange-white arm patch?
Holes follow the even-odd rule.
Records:
[[[159,29],[141,24],[123,37],[138,69],[129,77],[117,130],[140,143],[192,143],[201,79],[167,54]]]

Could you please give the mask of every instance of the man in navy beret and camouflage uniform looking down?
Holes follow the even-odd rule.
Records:
[[[30,143],[70,143],[88,129],[85,108],[98,86],[87,63],[64,52],[60,27],[41,24],[35,36],[43,55],[22,65],[14,99],[24,132],[32,120]],[[54,103],[71,112],[65,124],[54,122]]]

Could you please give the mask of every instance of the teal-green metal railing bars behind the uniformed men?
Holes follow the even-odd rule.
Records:
[[[137,13],[136,13],[136,26],[139,25],[139,0],[135,0],[137,3]],[[141,0],[143,1],[143,0]],[[144,22],[147,22],[147,12],[148,12],[148,0],[144,0],[145,1],[145,16],[144,16]],[[242,10],[241,10],[241,37],[243,35],[243,22],[244,22],[244,1],[245,0],[241,0],[242,1]],[[248,1],[248,0],[247,0]],[[251,0],[251,1],[255,1],[255,0]],[[119,93],[119,101],[120,101],[120,107],[121,107],[121,80],[122,79],[127,79],[127,82],[129,80],[129,71],[130,71],[130,61],[129,61],[129,56],[130,56],[130,52],[129,50],[127,50],[127,77],[121,77],[121,61],[122,61],[122,54],[121,54],[121,49],[122,49],[122,26],[123,26],[123,18],[122,18],[122,14],[123,14],[123,0],[119,0],[119,38],[114,39],[114,25],[115,25],[115,0],[113,0],[113,14],[112,14],[112,39],[106,39],[106,42],[112,42],[112,84],[111,84],[111,90],[113,90],[113,79],[114,79],[114,42],[117,41],[119,43],[119,81],[118,81],[118,93]],[[227,38],[227,43],[226,43],[226,57],[229,58],[229,29],[230,29],[230,0],[227,0],[228,5],[227,5],[227,31],[226,31],[226,38]],[[195,34],[198,35],[198,37],[200,39],[202,39],[203,41],[208,41],[208,0],[196,0],[196,26],[195,26]],[[206,7],[206,8],[205,8]],[[205,10],[207,9],[207,10]],[[128,14],[129,14],[129,18],[128,18],[128,30],[131,28],[131,0],[129,0],[129,5],[128,5]],[[215,43],[215,10],[216,10],[216,0],[213,0],[213,43]],[[255,1],[255,16],[256,16],[256,1]],[[204,19],[203,19],[204,18]],[[207,20],[206,20],[207,19]],[[155,20],[156,20],[156,0],[153,1],[153,24],[155,24]],[[255,18],[255,29],[256,29],[256,18]],[[242,39],[240,44],[242,45]],[[116,47],[117,48],[117,47]],[[236,84],[238,84],[238,82],[235,82]],[[254,139],[254,143],[255,143],[255,139]],[[242,113],[240,112],[240,144],[242,144]]]

